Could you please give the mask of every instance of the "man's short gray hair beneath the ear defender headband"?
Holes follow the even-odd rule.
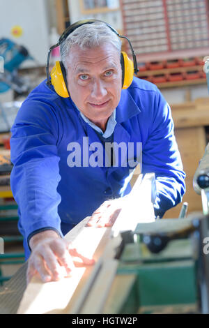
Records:
[[[121,52],[121,40],[107,24],[103,22],[84,24],[70,33],[68,38],[61,43],[61,61],[67,68],[68,55],[73,45],[78,45],[82,50],[86,50],[91,47],[98,47],[103,43],[111,43],[118,50],[118,53]]]

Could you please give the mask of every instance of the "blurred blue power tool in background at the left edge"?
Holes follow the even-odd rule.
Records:
[[[17,74],[17,70],[26,59],[33,59],[22,45],[7,38],[0,39],[0,56],[3,58],[3,72],[0,73],[0,93],[15,90],[23,94],[29,90],[29,81]]]

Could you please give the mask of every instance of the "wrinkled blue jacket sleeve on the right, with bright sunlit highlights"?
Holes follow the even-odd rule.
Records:
[[[173,133],[171,108],[158,89],[148,119],[151,124],[143,148],[142,172],[155,172],[155,215],[162,218],[165,211],[181,202],[185,193],[185,172]]]

